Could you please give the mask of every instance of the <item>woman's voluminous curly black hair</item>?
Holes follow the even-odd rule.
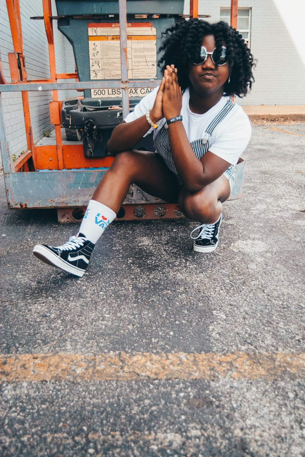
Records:
[[[164,42],[159,52],[164,51],[164,53],[159,59],[159,67],[164,71],[166,65],[174,64],[181,90],[185,91],[190,85],[188,77],[190,64],[200,55],[202,38],[206,35],[214,35],[219,56],[223,42],[226,43],[230,82],[227,80],[224,85],[225,95],[245,96],[254,82],[253,55],[242,36],[226,22],[211,24],[196,18],[168,28],[162,33]]]

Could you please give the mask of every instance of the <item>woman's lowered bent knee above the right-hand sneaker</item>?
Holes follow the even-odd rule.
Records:
[[[207,192],[201,191],[186,193],[181,206],[187,218],[202,223],[214,223],[217,212],[216,203],[215,198]]]

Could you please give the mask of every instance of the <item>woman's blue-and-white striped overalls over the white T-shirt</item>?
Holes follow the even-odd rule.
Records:
[[[209,148],[211,146],[209,138],[211,137],[216,126],[219,124],[219,122],[222,121],[222,119],[224,119],[224,117],[227,116],[227,113],[232,110],[233,106],[235,106],[235,103],[233,103],[232,100],[228,100],[227,103],[220,110],[220,112],[218,112],[218,114],[214,117],[214,119],[208,125],[206,131],[204,132],[203,138],[199,138],[190,143],[191,148],[193,149],[193,151],[194,151],[196,157],[198,157],[198,159],[201,159],[203,154],[205,154],[209,150]],[[207,137],[207,138],[205,138],[205,137]],[[160,156],[164,160],[167,167],[176,175],[177,181],[182,186],[182,181],[180,179],[180,176],[178,175],[176,166],[174,164],[174,161],[173,161],[173,158],[171,155],[171,145],[170,145],[170,141],[169,141],[168,125],[166,124],[166,122],[155,136],[155,149],[156,149],[156,153],[160,154]],[[232,188],[233,188],[233,184],[235,181],[234,165],[230,165],[229,168],[223,174],[226,176],[227,180],[229,181],[231,193],[232,193]]]

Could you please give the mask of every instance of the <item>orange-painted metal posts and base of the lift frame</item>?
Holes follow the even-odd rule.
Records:
[[[78,80],[77,73],[56,73],[54,34],[52,24],[51,0],[42,0],[43,19],[47,34],[50,79],[27,80],[25,58],[23,53],[23,41],[21,32],[21,16],[19,0],[6,0],[7,11],[10,21],[10,30],[13,40],[14,53],[9,53],[9,65],[11,83],[5,81],[0,61],[0,83],[1,84],[27,84],[27,83],[54,83],[57,80],[73,79]],[[238,0],[231,0],[231,24],[237,28]],[[198,17],[198,0],[190,0],[190,17]],[[50,119],[55,126],[56,145],[35,146],[31,127],[31,116],[29,108],[28,92],[21,92],[23,113],[26,127],[27,150],[16,160],[15,171],[34,170],[63,170],[72,168],[98,168],[109,167],[114,160],[113,157],[86,159],[83,154],[83,145],[63,145],[61,134],[61,104],[58,100],[58,91],[52,91],[52,102],[50,102]]]

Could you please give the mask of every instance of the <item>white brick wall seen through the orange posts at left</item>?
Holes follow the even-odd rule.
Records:
[[[28,79],[47,79],[50,77],[47,37],[43,21],[33,21],[31,16],[42,16],[41,0],[21,0],[21,26]],[[52,0],[52,14],[56,15],[55,1]],[[66,73],[65,42],[66,37],[57,30],[54,21],[54,40],[57,73]],[[70,46],[70,44],[67,42]],[[14,52],[5,0],[0,0],[0,51],[5,79],[10,82],[10,69],[7,53]],[[74,67],[72,68],[74,72]],[[68,92],[60,91],[60,99]],[[6,136],[12,154],[26,149],[26,136],[20,92],[2,94]],[[34,142],[43,136],[44,130],[52,128],[49,119],[49,101],[52,92],[29,92],[31,124]]]

